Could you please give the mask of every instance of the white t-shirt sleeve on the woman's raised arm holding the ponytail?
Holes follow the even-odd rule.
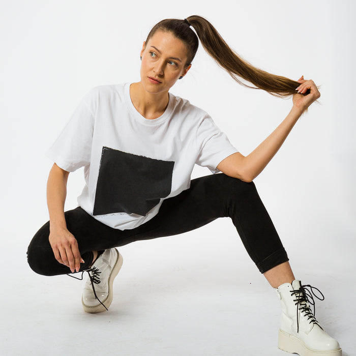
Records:
[[[209,168],[212,173],[220,172],[217,165],[226,157],[239,152],[208,114],[199,123],[196,146],[199,154],[195,163]]]

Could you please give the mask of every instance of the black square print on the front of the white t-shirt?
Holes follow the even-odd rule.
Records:
[[[133,155],[103,146],[93,215],[145,216],[171,192],[173,161]]]

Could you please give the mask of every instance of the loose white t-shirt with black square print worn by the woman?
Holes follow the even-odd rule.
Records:
[[[164,199],[188,189],[194,164],[217,173],[238,152],[209,114],[171,93],[165,112],[146,119],[130,84],[88,91],[45,153],[66,171],[84,166],[78,205],[120,230],[149,221]]]

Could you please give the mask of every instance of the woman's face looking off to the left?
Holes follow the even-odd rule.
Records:
[[[180,76],[191,67],[187,63],[187,47],[172,34],[157,31],[141,50],[141,83],[152,94],[168,92]]]

